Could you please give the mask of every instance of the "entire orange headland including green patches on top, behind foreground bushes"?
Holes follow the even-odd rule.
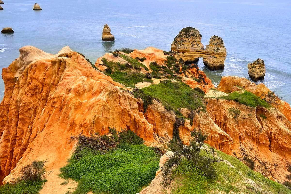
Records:
[[[223,46],[213,37],[207,48],[217,44]],[[216,90],[196,65],[184,65],[153,47],[105,54],[95,65],[68,46],[56,55],[32,46],[19,51],[19,58],[2,71],[4,184],[32,161],[45,161],[50,173],[40,193],[66,192],[58,174],[77,146],[74,137],[99,137],[111,128],[133,131],[148,146],[164,146],[172,139],[189,145],[191,132],[200,129],[209,134],[208,145],[265,177],[288,182],[290,105],[281,99],[265,102],[270,90],[264,84],[228,76]]]

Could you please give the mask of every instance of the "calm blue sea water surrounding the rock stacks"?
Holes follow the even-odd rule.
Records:
[[[227,49],[225,69],[209,71],[198,62],[217,86],[221,76],[248,78],[247,64],[262,58],[265,83],[291,102],[291,2],[233,0],[38,0],[42,11],[33,11],[35,1],[3,0],[0,28],[12,27],[14,34],[0,34],[0,68],[19,56],[18,49],[33,45],[56,54],[69,45],[93,63],[104,53],[129,47],[149,46],[165,51],[179,31],[192,26],[208,44],[212,35],[223,38]],[[104,24],[115,35],[102,42]],[[0,81],[0,99],[4,94]]]

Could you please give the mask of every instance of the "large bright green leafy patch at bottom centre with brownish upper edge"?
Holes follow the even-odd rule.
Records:
[[[74,194],[138,193],[159,169],[157,149],[147,147],[134,132],[125,130],[109,135],[79,137],[79,146],[61,168],[61,177],[78,182]]]

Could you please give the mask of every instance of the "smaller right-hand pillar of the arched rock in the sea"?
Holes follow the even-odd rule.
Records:
[[[212,36],[209,40],[209,45],[206,45],[207,52],[213,53],[211,56],[203,57],[203,63],[211,70],[224,69],[224,61],[226,58],[226,48],[224,46],[222,38],[218,36]],[[225,57],[217,57],[225,56]]]

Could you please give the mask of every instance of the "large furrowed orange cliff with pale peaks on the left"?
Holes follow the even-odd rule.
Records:
[[[131,129],[152,144],[153,126],[137,99],[95,70],[68,47],[57,55],[26,46],[3,68],[5,96],[0,105],[0,180],[11,181],[22,166],[47,161],[59,169],[70,156],[70,137],[104,134],[108,127]],[[61,57],[58,57],[61,56]]]

